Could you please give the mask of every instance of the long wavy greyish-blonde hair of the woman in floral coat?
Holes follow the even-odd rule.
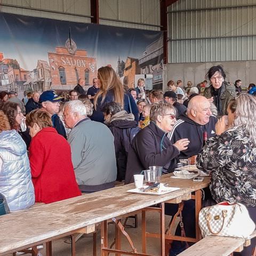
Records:
[[[234,127],[244,127],[249,138],[256,143],[256,99],[250,94],[242,93],[237,97],[237,107],[235,111]]]

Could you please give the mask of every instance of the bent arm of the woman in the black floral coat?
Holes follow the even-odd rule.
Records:
[[[196,158],[196,166],[205,173],[217,170],[230,163],[232,138],[223,133],[208,139],[200,154]]]

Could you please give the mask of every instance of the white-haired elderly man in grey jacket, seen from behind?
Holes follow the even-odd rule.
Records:
[[[114,187],[117,171],[111,131],[105,124],[91,121],[80,100],[65,103],[63,117],[71,129],[68,143],[79,189],[92,193]]]

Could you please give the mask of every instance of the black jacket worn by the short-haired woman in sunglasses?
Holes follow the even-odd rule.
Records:
[[[140,174],[149,166],[166,166],[172,169],[173,159],[180,154],[164,131],[154,122],[142,129],[133,139],[128,153],[125,184],[133,182],[133,175]]]

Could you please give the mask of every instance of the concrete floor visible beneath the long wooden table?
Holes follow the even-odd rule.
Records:
[[[150,212],[147,213],[147,231],[154,233],[159,233],[159,214]],[[166,226],[170,221],[170,217],[165,218]],[[129,219],[129,223],[133,223],[133,219]],[[111,244],[114,241],[115,235],[115,225],[110,223],[108,226],[108,243]],[[134,246],[137,248],[138,252],[141,252],[141,214],[138,215],[138,228],[125,228],[125,231],[131,236]],[[70,256],[71,255],[71,245],[64,243],[67,238],[58,239],[53,241],[53,256]],[[100,255],[100,231],[97,235],[97,255]],[[127,240],[122,236],[122,249],[131,251],[131,247]],[[92,236],[86,235],[82,236],[76,242],[76,255],[77,256],[92,256],[93,243]],[[147,239],[147,253],[151,255],[160,255],[160,242],[156,238]],[[43,250],[39,251],[44,256]],[[31,255],[31,254],[23,254]],[[115,254],[109,254],[115,255]],[[6,254],[6,256],[12,256],[12,254]]]

